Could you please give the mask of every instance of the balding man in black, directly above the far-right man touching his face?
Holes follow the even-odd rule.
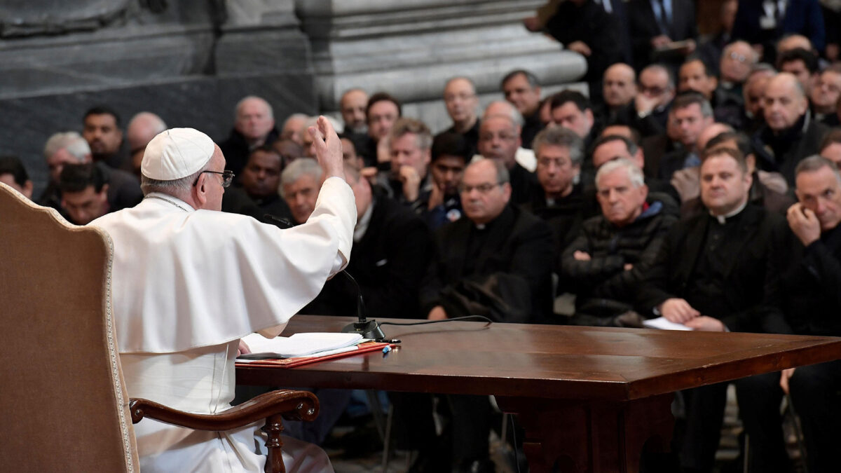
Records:
[[[828,127],[812,119],[800,81],[789,72],[771,78],[764,92],[765,125],[753,137],[757,166],[775,171],[794,187],[794,170],[802,159],[817,154]]]

